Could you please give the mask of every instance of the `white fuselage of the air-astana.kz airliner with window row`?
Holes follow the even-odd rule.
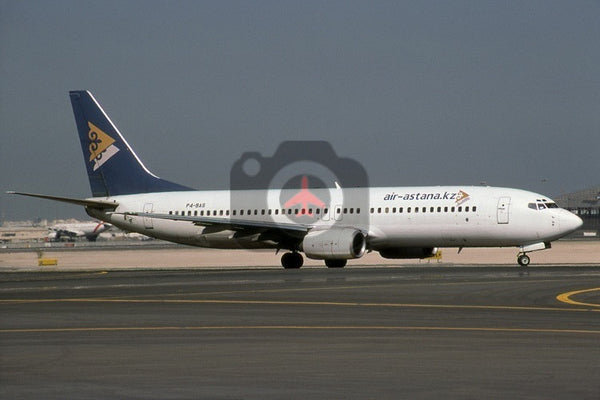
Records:
[[[151,237],[202,247],[277,247],[256,236],[144,213],[210,217],[223,221],[273,221],[308,229],[352,227],[367,247],[504,247],[556,240],[581,220],[540,194],[497,187],[385,187],[312,189],[325,206],[284,207],[295,190],[185,191],[114,196],[112,212],[95,218]],[[318,210],[318,211],[317,211]],[[135,214],[135,215],[134,215]]]

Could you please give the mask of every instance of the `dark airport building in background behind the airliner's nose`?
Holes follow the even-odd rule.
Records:
[[[559,207],[579,215],[583,226],[574,237],[600,238],[600,186],[564,194],[554,199]]]

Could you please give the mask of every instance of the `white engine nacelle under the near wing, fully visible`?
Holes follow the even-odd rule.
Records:
[[[365,235],[352,228],[311,231],[302,241],[306,257],[317,260],[359,258],[366,247]]]

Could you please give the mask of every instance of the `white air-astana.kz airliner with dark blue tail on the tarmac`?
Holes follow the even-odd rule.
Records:
[[[550,248],[583,224],[547,196],[502,187],[336,183],[308,190],[306,180],[306,205],[286,204],[297,194],[293,189],[194,190],[150,172],[89,91],[69,95],[92,197],[8,193],[83,206],[125,231],[200,247],[285,250],[286,269],[300,268],[302,253],[341,268],[372,251],[422,259],[439,248],[467,247],[515,247],[517,263],[527,266],[530,252]],[[233,203],[233,195],[242,201]]]

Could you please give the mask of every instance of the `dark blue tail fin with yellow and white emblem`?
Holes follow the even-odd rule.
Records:
[[[192,190],[148,171],[89,91],[69,96],[92,196]]]

